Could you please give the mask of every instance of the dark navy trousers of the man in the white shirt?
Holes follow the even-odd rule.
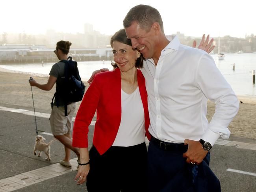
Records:
[[[184,144],[171,149],[158,145],[152,137],[148,146],[149,192],[220,192],[219,179],[209,167],[210,152],[200,165],[186,162]],[[159,140],[158,140],[159,141]]]

